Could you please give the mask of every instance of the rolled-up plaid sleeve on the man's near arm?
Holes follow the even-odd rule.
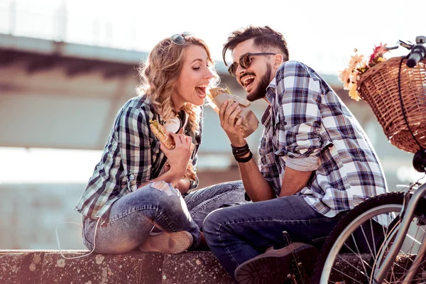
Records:
[[[278,151],[286,155],[286,166],[310,171],[318,168],[322,151],[320,82],[306,65],[287,62],[276,75]]]

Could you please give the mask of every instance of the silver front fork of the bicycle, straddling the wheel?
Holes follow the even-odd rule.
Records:
[[[410,227],[410,222],[413,219],[413,216],[415,213],[415,208],[417,207],[417,204],[420,202],[420,200],[425,197],[425,195],[426,195],[426,184],[423,184],[414,192],[413,196],[408,202],[407,208],[405,209],[405,212],[404,212],[402,222],[400,224],[400,229],[398,230],[398,234],[395,237],[395,241],[393,242],[393,245],[391,246],[391,249],[389,250],[388,256],[386,257],[385,261],[383,261],[382,265],[378,268],[378,273],[375,275],[373,279],[373,283],[375,284],[383,283],[383,280],[388,274],[389,268],[391,268],[393,261],[395,261],[395,258],[398,255],[398,252],[400,251],[401,246],[403,245],[405,234],[407,234],[407,231]],[[417,273],[418,268],[420,267],[420,264],[425,258],[425,253],[426,253],[426,241],[424,240],[422,241],[420,249],[417,252],[417,256],[415,257],[415,260],[410,267],[410,271],[408,272],[408,275],[405,276],[403,283],[411,283],[415,274]]]

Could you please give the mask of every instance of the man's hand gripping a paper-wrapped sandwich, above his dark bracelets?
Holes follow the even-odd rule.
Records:
[[[240,116],[239,119],[236,119],[241,111],[238,102],[229,104],[227,101],[222,104],[219,110],[220,126],[224,129],[231,144],[236,147],[244,146],[247,143],[243,131],[241,131],[243,118]]]

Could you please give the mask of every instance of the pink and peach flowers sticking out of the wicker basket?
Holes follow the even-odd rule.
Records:
[[[374,46],[373,53],[370,55],[368,62],[364,59],[364,55],[359,55],[355,49],[355,54],[351,56],[348,67],[340,72],[339,80],[343,82],[343,89],[349,90],[349,97],[359,101],[359,93],[356,90],[358,81],[361,79],[361,74],[366,72],[371,67],[378,65],[378,63],[385,61],[383,57],[386,50],[386,44]]]

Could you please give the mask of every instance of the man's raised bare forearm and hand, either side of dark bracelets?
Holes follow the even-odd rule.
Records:
[[[241,132],[242,117],[238,120],[236,116],[241,112],[238,108],[239,104],[234,103],[228,106],[228,102],[224,102],[219,111],[219,118],[222,129],[226,132],[232,146],[241,147],[247,144],[246,139]],[[248,157],[249,153],[244,157]],[[275,193],[271,185],[263,178],[261,171],[258,169],[256,162],[251,158],[247,163],[238,163],[243,180],[244,189],[253,202],[262,200],[271,200],[275,198]]]

